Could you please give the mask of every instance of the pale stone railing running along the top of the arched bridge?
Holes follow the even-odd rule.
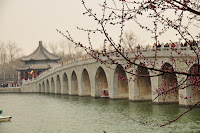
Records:
[[[200,45],[200,42],[198,43],[198,45]],[[193,46],[195,49],[197,49],[196,46]],[[191,50],[191,48],[189,46],[177,46],[177,47],[171,47],[171,45],[169,47],[165,47],[164,45],[161,45],[161,47],[152,47],[152,46],[147,46],[147,47],[141,47],[141,48],[137,48],[135,47],[135,49],[132,49],[131,51],[124,51],[125,54],[134,54],[136,51],[140,51],[142,53],[147,53],[147,52],[155,52],[155,51],[170,51],[170,50],[177,50],[177,51],[188,51],[188,50]],[[108,53],[106,54],[109,54],[110,57],[120,57],[119,53],[116,53],[116,52],[112,52],[112,51],[109,51]],[[102,58],[103,55],[100,55],[100,58]],[[80,62],[80,61],[86,61],[86,60],[91,60],[93,59],[90,55],[85,55],[85,56],[81,56],[81,57],[77,57],[77,58],[73,58],[73,59],[70,59],[70,60],[67,60],[63,63],[60,63],[58,65],[55,65],[53,66],[52,68],[44,71],[43,73],[41,73],[37,78],[34,78],[34,79],[31,79],[31,80],[27,80],[27,81],[24,81],[25,82],[32,82],[32,81],[35,81],[37,79],[40,79],[42,77],[45,77],[46,74],[49,74],[50,72],[53,72],[53,71],[57,71],[58,69],[64,67],[64,66],[67,66],[67,65],[72,65],[73,63],[76,63],[76,62]],[[94,59],[93,59],[94,60]]]

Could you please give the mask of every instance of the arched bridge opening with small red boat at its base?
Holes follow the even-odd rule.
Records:
[[[98,92],[96,96],[102,96],[104,90],[106,90],[107,93],[109,93],[107,77],[102,67],[99,67],[97,69],[95,75],[95,88]]]

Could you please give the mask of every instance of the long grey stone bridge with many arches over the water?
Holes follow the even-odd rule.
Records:
[[[155,61],[155,49],[142,49],[138,52],[141,52],[145,59],[136,60],[136,63],[150,66],[150,62]],[[116,53],[110,53],[109,56],[119,64],[126,64],[126,61],[122,57],[116,56]],[[194,52],[189,47],[178,47],[173,52],[169,47],[161,47],[156,56],[156,68],[162,70],[171,67],[176,71],[191,72],[197,62]],[[129,52],[129,57],[135,59],[134,52]],[[107,60],[107,57],[104,56],[100,56],[100,58]],[[128,71],[136,70],[138,75],[149,75],[138,77],[121,71],[125,70],[125,67],[125,65],[110,65],[108,68],[95,59],[85,56],[59,64],[39,75],[37,79],[23,81],[21,90],[22,92],[100,97],[102,91],[107,89],[109,98],[112,99],[150,101],[158,95],[158,88],[169,89],[170,85],[175,84],[179,84],[180,87],[186,86],[186,84],[181,84],[187,78],[184,75],[153,76],[159,72],[148,71],[137,66],[126,69]],[[190,81],[188,80],[186,83],[190,83]],[[200,100],[198,89],[187,87],[159,96],[153,102],[194,105],[198,100]]]

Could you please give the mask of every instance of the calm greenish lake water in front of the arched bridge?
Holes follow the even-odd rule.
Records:
[[[0,133],[146,133],[200,132],[200,108],[166,127],[163,124],[186,109],[178,105],[94,99],[54,94],[0,94],[3,115],[11,122],[0,123]]]

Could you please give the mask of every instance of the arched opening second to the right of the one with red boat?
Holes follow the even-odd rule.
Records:
[[[145,64],[140,63],[136,70],[135,88],[138,92],[138,100],[152,100],[151,79]],[[144,66],[144,67],[142,67]]]

